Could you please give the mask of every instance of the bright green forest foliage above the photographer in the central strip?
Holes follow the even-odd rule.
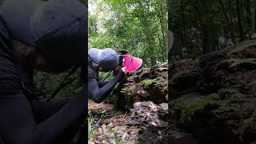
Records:
[[[89,47],[128,50],[142,58],[145,66],[166,61],[165,1],[91,2],[98,6],[98,12],[89,15]]]

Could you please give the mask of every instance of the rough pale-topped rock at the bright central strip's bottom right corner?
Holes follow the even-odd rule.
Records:
[[[167,103],[161,105],[153,102],[136,102],[130,110],[130,126],[138,126],[139,143],[166,143],[168,138],[168,123],[158,116],[160,111],[168,112]]]

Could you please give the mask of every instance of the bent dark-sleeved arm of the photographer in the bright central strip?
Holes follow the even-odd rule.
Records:
[[[94,99],[94,102],[100,103],[103,101],[104,98],[108,94],[110,94],[110,91],[113,90],[114,86],[117,84],[117,82],[123,78],[124,72],[120,69],[118,70],[118,74],[116,77],[111,79],[110,82],[107,82],[105,86],[98,86],[98,82],[96,79],[90,79],[88,80],[88,91],[90,96]]]

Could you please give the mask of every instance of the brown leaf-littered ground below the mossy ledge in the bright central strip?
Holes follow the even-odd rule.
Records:
[[[167,126],[167,122],[162,121],[158,114],[167,114],[167,103],[156,105],[153,102],[136,102],[129,113],[123,113],[115,110],[110,104],[97,104],[90,100],[89,110],[94,116],[94,139],[89,141],[90,144],[117,141],[123,143],[166,142],[167,133],[162,133],[160,129]],[[149,128],[157,130],[156,133],[152,134],[151,130],[147,133]]]

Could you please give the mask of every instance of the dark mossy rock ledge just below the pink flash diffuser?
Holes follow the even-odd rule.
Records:
[[[163,63],[130,74],[121,82],[106,102],[114,103],[119,110],[130,110],[135,102],[168,102],[168,64]]]

